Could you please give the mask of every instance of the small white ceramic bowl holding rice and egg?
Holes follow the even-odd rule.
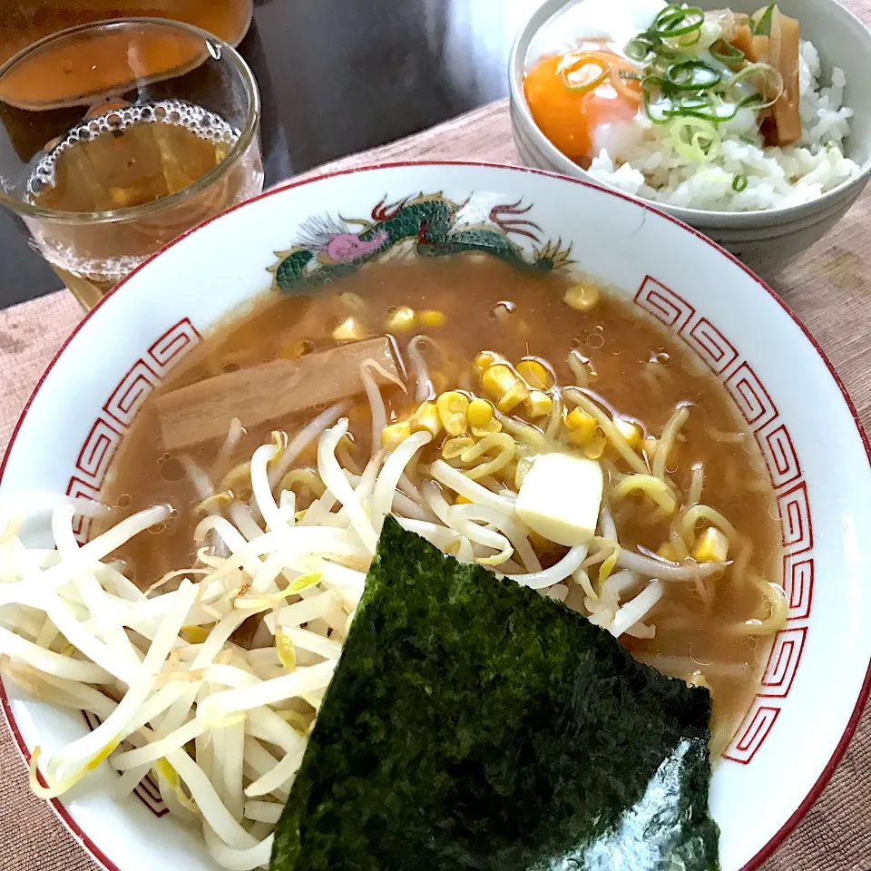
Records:
[[[539,130],[524,98],[526,64],[540,56],[542,50],[540,44],[533,43],[536,34],[554,15],[574,2],[576,0],[570,0],[570,3],[545,0],[518,34],[508,64],[511,122],[514,142],[524,163],[590,181],[588,174]],[[736,12],[752,13],[758,9],[759,0],[729,0],[729,3],[693,0],[693,5],[702,9],[728,6]],[[847,73],[844,101],[856,111],[847,140],[847,156],[859,164],[859,173],[816,201],[784,209],[729,212],[655,204],[710,236],[752,269],[768,275],[831,230],[871,177],[871,78],[867,74],[871,33],[837,0],[781,0],[780,7],[787,15],[798,18],[802,36],[817,46],[825,82],[829,81],[833,64]],[[528,56],[530,54],[532,56]]]

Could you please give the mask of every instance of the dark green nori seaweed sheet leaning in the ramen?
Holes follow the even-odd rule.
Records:
[[[717,869],[710,693],[390,518],[271,871]]]

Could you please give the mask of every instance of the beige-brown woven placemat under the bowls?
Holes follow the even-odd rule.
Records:
[[[851,5],[871,20],[871,0]],[[315,173],[385,161],[519,163],[507,103],[500,101]],[[871,190],[825,240],[773,284],[826,351],[871,431]],[[27,396],[82,312],[65,291],[0,312],[0,451]],[[21,757],[0,723],[0,868],[97,871],[93,861],[28,787]],[[772,790],[780,788],[775,781]],[[817,804],[762,866],[764,871],[871,871],[871,715]]]

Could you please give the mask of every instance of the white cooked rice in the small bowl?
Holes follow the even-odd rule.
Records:
[[[817,49],[802,41],[802,135],[796,145],[764,147],[756,113],[745,108],[719,125],[719,154],[699,163],[674,148],[669,124],[654,124],[641,112],[633,122],[611,124],[598,133],[599,156],[590,175],[633,196],[692,209],[752,211],[815,200],[859,171],[844,154],[853,117],[853,110],[842,105],[847,76],[835,67],[829,87],[820,87],[819,76]],[[736,176],[747,178],[743,191],[732,188]]]

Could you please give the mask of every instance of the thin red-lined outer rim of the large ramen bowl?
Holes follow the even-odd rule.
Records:
[[[731,254],[728,250],[722,248],[722,246],[720,246],[714,240],[711,240],[710,237],[706,236],[700,230],[697,230],[685,221],[679,220],[667,211],[658,209],[656,206],[651,205],[648,201],[641,200],[640,198],[636,197],[631,197],[629,194],[623,191],[616,191],[612,188],[603,187],[602,185],[596,184],[588,179],[580,179],[560,172],[542,170],[537,167],[516,166],[489,161],[412,160],[367,163],[360,166],[348,167],[332,171],[323,171],[302,179],[287,181],[285,183],[270,188],[268,191],[261,192],[257,196],[250,198],[250,200],[237,203],[236,205],[230,207],[230,209],[220,212],[220,214],[218,215],[214,215],[209,219],[201,221],[201,223],[197,224],[194,227],[191,227],[189,230],[186,230],[181,234],[181,236],[177,237],[174,240],[171,240],[170,242],[163,245],[161,249],[155,251],[139,266],[133,269],[128,276],[126,276],[117,285],[115,285],[113,289],[111,289],[90,311],[85,314],[84,318],[78,324],[76,324],[75,328],[73,328],[70,335],[64,339],[64,343],[57,350],[51,362],[47,365],[47,367],[45,367],[44,372],[39,377],[39,380],[36,382],[33,391],[31,392],[30,396],[28,396],[24,408],[21,411],[21,414],[18,416],[15,427],[9,436],[9,442],[5,447],[4,454],[2,458],[0,458],[0,482],[2,482],[3,480],[6,465],[9,461],[10,455],[12,454],[12,450],[15,445],[15,439],[19,435],[21,426],[24,423],[24,418],[29,413],[31,406],[34,403],[34,399],[39,393],[40,389],[43,387],[46,378],[52,372],[54,367],[60,362],[61,357],[63,357],[66,348],[73,341],[73,338],[75,338],[83,329],[83,327],[91,320],[91,318],[93,318],[94,313],[98,309],[103,307],[103,304],[106,302],[107,299],[113,298],[116,291],[121,289],[123,285],[125,285],[130,279],[132,279],[132,276],[136,275],[142,269],[148,266],[148,264],[150,264],[152,260],[160,257],[164,251],[175,247],[182,240],[187,239],[188,236],[191,236],[197,230],[201,230],[203,227],[206,227],[212,221],[218,220],[223,215],[229,214],[230,212],[236,210],[240,210],[245,206],[250,205],[251,203],[263,200],[267,197],[273,196],[274,194],[289,191],[293,188],[305,186],[318,181],[325,181],[331,178],[353,175],[359,172],[390,170],[407,167],[452,166],[490,168],[497,170],[507,170],[512,172],[524,172],[533,175],[550,177],[558,179],[560,181],[568,181],[572,184],[579,184],[586,188],[592,188],[595,191],[599,191],[609,196],[617,197],[621,200],[631,202],[633,205],[641,207],[642,209],[650,210],[654,214],[659,215],[661,218],[668,220],[673,224],[676,224],[683,230],[687,230],[692,236],[695,236],[697,239],[709,245],[714,250],[717,250],[721,255],[729,259],[736,266],[738,266],[739,269],[741,269],[748,276],[748,278],[758,286],[758,289],[767,293],[768,296],[771,297],[778,304],[778,306],[783,309],[786,317],[791,319],[798,327],[798,329],[802,332],[802,334],[807,338],[811,347],[813,347],[814,351],[817,353],[817,356],[826,367],[828,374],[833,378],[838,390],[840,391],[841,396],[843,397],[844,402],[847,406],[847,412],[853,418],[854,425],[856,426],[856,432],[859,435],[863,447],[865,448],[868,464],[871,465],[871,441],[869,441],[868,435],[866,435],[865,428],[864,426],[862,426],[862,422],[858,415],[856,406],[854,405],[853,400],[847,392],[847,387],[845,387],[843,381],[838,376],[835,367],[828,359],[823,348],[820,347],[817,339],[814,338],[813,335],[811,335],[810,331],[807,329],[804,323],[802,323],[802,321],[788,307],[787,303],[782,298],[780,298],[773,289],[768,286],[768,283],[764,279],[761,279],[752,269],[749,269],[749,267],[742,263],[737,257]],[[869,661],[866,666],[865,678],[863,679],[859,691],[856,695],[856,703],[854,709],[849,719],[847,719],[847,723],[841,733],[840,739],[838,739],[837,744],[827,761],[827,764],[822,768],[819,776],[817,777],[817,780],[814,782],[811,788],[808,789],[806,796],[802,799],[798,807],[796,807],[795,811],[790,815],[790,817],[788,817],[786,822],[778,829],[778,831],[768,838],[768,841],[765,843],[765,845],[761,847],[758,852],[749,859],[749,861],[740,869],[740,871],[756,871],[756,869],[758,869],[758,867],[761,866],[770,856],[772,856],[774,852],[778,849],[778,847],[780,847],[784,843],[787,837],[798,826],[798,823],[801,822],[801,820],[807,815],[808,810],[813,807],[813,805],[817,802],[817,799],[821,796],[829,780],[834,775],[841,759],[844,757],[850,741],[855,736],[856,728],[858,727],[859,720],[862,717],[869,697],[871,697],[871,661]],[[13,738],[15,739],[15,745],[18,748],[21,757],[24,759],[24,764],[26,766],[29,766],[31,762],[31,752],[24,741],[24,736],[18,728],[18,724],[15,719],[15,715],[13,714],[12,706],[7,696],[3,680],[0,680],[0,710],[3,711],[4,719],[10,729],[10,732],[12,733]],[[67,807],[65,807],[64,803],[61,801],[60,798],[50,798],[48,799],[48,803],[52,807],[55,815],[60,819],[64,827],[66,827],[67,830],[73,835],[73,837],[79,841],[85,851],[89,853],[90,856],[92,856],[94,861],[96,861],[100,866],[103,866],[103,869],[105,869],[105,871],[122,871],[119,866],[117,866],[111,859],[109,859],[108,856],[103,853],[103,850],[101,850],[101,848],[94,843],[93,839],[88,836],[87,832],[77,822],[77,820],[73,817]]]

